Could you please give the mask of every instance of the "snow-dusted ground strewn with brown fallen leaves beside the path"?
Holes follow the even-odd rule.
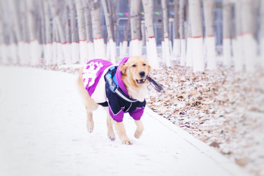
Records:
[[[193,73],[174,65],[152,71],[164,92],[149,86],[147,106],[253,175],[264,175],[264,71],[235,73],[219,66]]]

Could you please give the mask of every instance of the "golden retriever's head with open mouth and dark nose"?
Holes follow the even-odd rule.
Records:
[[[122,77],[126,77],[134,86],[147,84],[150,70],[150,65],[142,56],[131,56],[126,63],[120,66]]]

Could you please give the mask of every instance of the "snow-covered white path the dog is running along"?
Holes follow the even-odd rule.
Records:
[[[76,77],[0,66],[0,175],[249,175],[149,108],[140,139],[124,117],[133,145],[107,138],[100,109],[89,134]]]

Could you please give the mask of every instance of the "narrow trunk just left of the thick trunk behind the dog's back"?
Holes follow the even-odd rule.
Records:
[[[87,39],[87,51],[88,51],[88,60],[94,58],[94,48],[93,48],[93,29],[92,29],[92,19],[91,12],[86,0],[82,0],[84,7],[84,20],[85,20],[85,29],[86,29],[86,39]]]

